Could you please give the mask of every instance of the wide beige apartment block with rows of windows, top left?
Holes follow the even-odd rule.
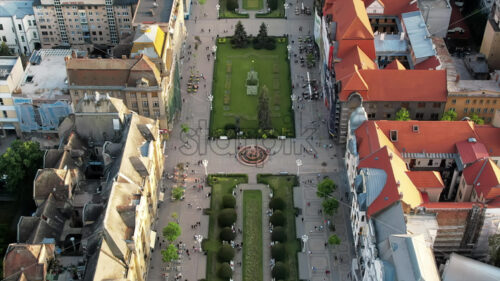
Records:
[[[132,33],[137,0],[35,0],[33,10],[43,48],[107,51]]]

